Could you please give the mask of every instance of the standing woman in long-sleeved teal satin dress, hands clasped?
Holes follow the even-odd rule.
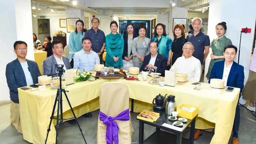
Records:
[[[118,25],[116,21],[110,23],[111,33],[106,36],[106,59],[105,65],[119,69],[123,67],[124,38],[117,33]]]

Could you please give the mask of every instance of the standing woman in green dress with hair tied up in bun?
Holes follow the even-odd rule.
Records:
[[[227,45],[232,45],[232,42],[230,39],[226,38],[224,34],[227,31],[227,25],[225,22],[218,23],[215,27],[216,34],[218,38],[212,40],[211,48],[211,61],[209,64],[208,73],[206,75],[207,79],[209,80],[213,64],[217,61],[225,60],[223,53],[224,53],[224,47]]]

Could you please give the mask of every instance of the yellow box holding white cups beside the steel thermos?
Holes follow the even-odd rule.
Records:
[[[193,119],[198,114],[198,107],[195,107],[196,110],[194,112],[189,112],[189,111],[182,110],[181,109],[182,106],[189,107],[189,108],[195,107],[195,106],[188,105],[188,104],[182,104],[181,106],[179,106],[177,108],[177,112],[179,112],[178,116],[188,118],[188,119]]]

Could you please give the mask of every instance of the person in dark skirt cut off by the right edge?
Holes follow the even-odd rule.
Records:
[[[256,102],[256,49],[254,48],[253,58],[251,61],[250,72],[248,80],[245,84],[242,96],[246,100],[250,100],[250,103],[247,105],[247,109],[255,112]]]

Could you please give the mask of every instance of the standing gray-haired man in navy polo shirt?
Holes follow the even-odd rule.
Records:
[[[201,31],[202,19],[196,17],[192,19],[193,30],[187,35],[187,41],[191,42],[195,47],[193,56],[200,60],[203,73],[203,62],[207,58],[210,49],[210,38]],[[201,74],[201,82],[203,82],[204,75]]]

